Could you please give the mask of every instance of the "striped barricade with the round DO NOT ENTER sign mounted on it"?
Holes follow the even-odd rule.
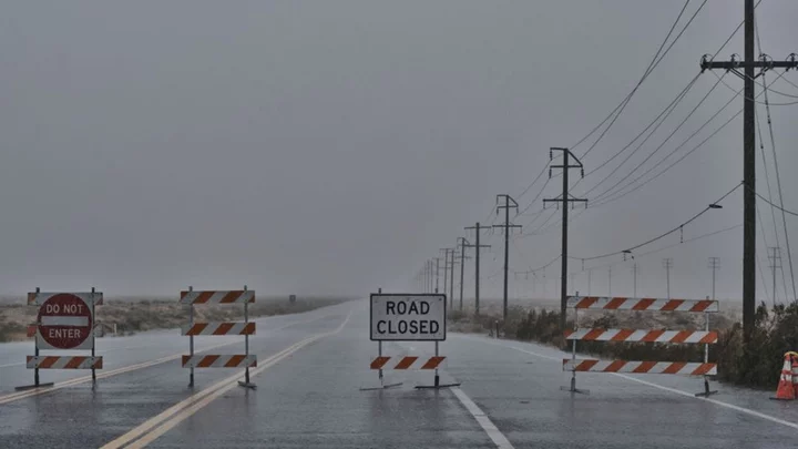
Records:
[[[102,357],[96,357],[94,306],[103,304],[103,294],[94,288],[84,293],[35,292],[28,294],[28,305],[39,307],[35,323],[28,326],[28,337],[34,337],[34,353],[27,356],[25,367],[33,370],[33,385],[17,390],[51,387],[41,382],[40,369],[91,369],[92,388],[96,385],[96,369],[102,369]],[[90,350],[90,356],[41,356],[40,350]]]

